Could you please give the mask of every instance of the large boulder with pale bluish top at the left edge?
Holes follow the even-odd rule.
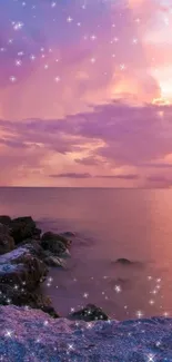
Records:
[[[19,247],[0,256],[0,283],[34,290],[48,274],[48,267],[27,248]]]

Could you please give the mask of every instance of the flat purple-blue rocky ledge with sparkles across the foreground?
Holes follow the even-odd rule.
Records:
[[[69,321],[0,306],[2,361],[172,362],[172,319]]]

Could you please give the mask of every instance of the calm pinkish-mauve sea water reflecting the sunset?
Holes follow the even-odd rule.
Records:
[[[0,188],[0,214],[77,233],[67,271],[42,286],[61,315],[87,303],[118,320],[172,315],[172,190]]]

